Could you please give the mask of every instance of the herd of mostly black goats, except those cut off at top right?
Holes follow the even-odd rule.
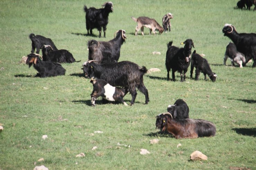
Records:
[[[104,8],[87,8],[86,12],[86,29],[97,28],[99,37],[101,37],[101,28],[106,37],[106,26],[108,24],[108,15],[113,10],[112,2],[103,4]],[[163,17],[163,27],[161,27],[154,19],[148,17],[134,18],[137,22],[136,32],[140,29],[143,35],[144,27],[150,29],[150,34],[155,30],[159,33],[171,30],[170,19],[172,14],[168,13]],[[256,67],[256,34],[255,33],[238,33],[234,26],[225,24],[222,29],[224,36],[229,37],[234,43],[229,43],[226,48],[224,57],[224,65],[229,58],[232,65],[235,63],[239,67],[243,67],[246,63],[253,59],[253,67]],[[86,78],[91,79],[93,91],[91,93],[91,105],[95,106],[95,100],[102,97],[102,103],[108,101],[119,101],[128,105],[124,101],[124,96],[129,92],[132,96],[130,104],[134,104],[138,89],[145,95],[145,104],[149,102],[148,90],[143,83],[143,76],[147,73],[146,67],[139,67],[138,64],[130,61],[120,61],[120,48],[125,42],[125,30],[118,30],[114,39],[105,41],[88,41],[89,57],[88,61],[82,64],[82,70]],[[53,41],[40,35],[31,33],[29,38],[32,41],[31,53],[28,54],[26,64],[38,71],[36,77],[51,77],[65,74],[65,69],[60,63],[79,62],[74,59],[72,54],[67,50],[58,50]],[[166,69],[167,79],[169,80],[169,72],[172,69],[172,81],[175,81],[175,72],[178,71],[181,76],[181,82],[186,80],[186,72],[191,66],[190,77],[192,78],[193,69],[195,70],[195,80],[199,79],[199,74],[206,74],[214,82],[216,81],[216,73],[211,71],[210,65],[206,59],[201,57],[192,47],[194,43],[191,39],[185,40],[184,48],[172,46],[172,41],[167,43],[166,52]],[[36,49],[36,53],[35,52]],[[39,55],[42,49],[43,56]],[[81,61],[81,60],[80,60]],[[191,64],[190,64],[191,63]],[[189,107],[182,99],[178,99],[174,105],[169,105],[167,112],[156,117],[156,127],[161,131],[167,131],[173,134],[175,138],[197,138],[210,137],[216,133],[216,127],[212,122],[201,119],[189,118]]]

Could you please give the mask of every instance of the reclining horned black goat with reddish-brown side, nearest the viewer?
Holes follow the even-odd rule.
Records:
[[[215,125],[202,119],[179,120],[172,117],[171,113],[163,113],[156,116],[156,127],[162,132],[167,130],[176,139],[198,138],[215,136]]]

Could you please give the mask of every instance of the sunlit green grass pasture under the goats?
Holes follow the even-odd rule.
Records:
[[[225,23],[238,32],[256,33],[256,12],[236,10],[237,0],[159,0],[112,1],[107,38],[86,36],[83,5],[101,8],[104,1],[95,0],[1,0],[0,1],[0,170],[26,169],[43,164],[53,169],[256,169],[256,70],[223,66],[226,45]],[[134,36],[133,17],[155,18],[171,12],[172,30],[161,35]],[[138,92],[135,104],[101,104],[90,106],[92,84],[82,74],[82,63],[88,59],[86,43],[90,39],[109,41],[119,30],[126,30],[127,40],[121,47],[119,61],[129,60],[159,68],[146,74],[144,84],[150,102]],[[65,76],[34,77],[37,71],[20,64],[31,51],[30,33],[51,38],[58,49],[69,50],[78,63],[62,64]],[[216,82],[187,79],[166,81],[166,43],[182,47],[191,38],[197,53],[205,54]],[[153,55],[153,51],[161,55]],[[42,52],[40,51],[40,54]],[[187,73],[189,76],[190,69]],[[195,74],[195,73],[194,73]],[[179,80],[179,73],[176,73]],[[127,103],[131,95],[125,96]],[[212,121],[216,136],[198,139],[175,139],[159,133],[155,116],[167,106],[183,99],[190,118]],[[102,131],[103,133],[94,133]],[[48,139],[43,140],[42,136]],[[159,139],[157,144],[149,144]],[[131,147],[119,146],[120,144]],[[177,144],[182,146],[177,148]],[[94,146],[97,149],[92,150]],[[140,155],[140,149],[150,154]],[[199,150],[207,161],[190,161]],[[75,156],[83,152],[85,157]],[[44,161],[37,160],[44,158]]]

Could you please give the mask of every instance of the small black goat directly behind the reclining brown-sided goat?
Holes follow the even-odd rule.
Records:
[[[189,118],[189,107],[186,102],[182,99],[175,101],[174,105],[169,105],[167,112],[172,114],[172,117],[176,119],[186,119]]]

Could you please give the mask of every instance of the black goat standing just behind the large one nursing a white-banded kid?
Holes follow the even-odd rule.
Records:
[[[117,36],[108,41],[88,41],[89,60],[98,61],[98,63],[104,62],[117,62],[120,57],[120,49],[125,42],[126,35],[125,30],[119,30],[116,32]]]

